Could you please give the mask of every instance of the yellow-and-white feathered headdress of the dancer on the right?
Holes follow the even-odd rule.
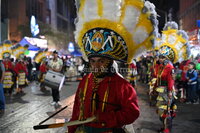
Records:
[[[159,53],[172,62],[181,62],[190,56],[187,33],[183,30],[178,30],[176,22],[167,22],[165,24]]]

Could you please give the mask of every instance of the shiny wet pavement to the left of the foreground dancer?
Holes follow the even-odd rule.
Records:
[[[60,93],[61,103],[62,107],[70,106],[44,124],[64,122],[65,118],[70,117],[73,95],[76,92],[77,85],[78,82],[66,83]],[[33,130],[33,126],[38,125],[61,107],[51,106],[50,89],[47,88],[47,91],[41,92],[36,82],[26,87],[24,92],[20,95],[14,94],[11,98],[6,97],[6,110],[0,116],[0,133],[64,133],[67,130],[66,127]]]

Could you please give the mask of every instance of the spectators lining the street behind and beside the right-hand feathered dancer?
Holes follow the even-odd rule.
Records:
[[[173,64],[175,90],[180,102],[199,104],[200,99],[200,56]],[[153,67],[159,64],[159,57],[147,56],[137,62],[137,80],[148,84],[153,79]],[[192,76],[191,76],[192,75]],[[149,92],[149,90],[148,90]],[[151,99],[150,99],[151,100]],[[150,101],[150,104],[155,102]]]

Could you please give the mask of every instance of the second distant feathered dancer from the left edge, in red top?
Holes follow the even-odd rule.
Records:
[[[24,62],[24,52],[28,49],[28,45],[25,45],[24,47],[20,44],[15,45],[13,50],[13,55],[16,57],[16,64],[15,64],[15,73],[17,74],[17,87],[16,91],[17,93],[23,92],[22,88],[26,85],[27,79],[26,76],[28,75],[26,64]]]

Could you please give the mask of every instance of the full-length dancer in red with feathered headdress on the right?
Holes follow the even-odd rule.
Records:
[[[178,30],[175,22],[166,23],[162,31],[157,67],[157,108],[163,122],[161,132],[169,133],[172,129],[172,119],[175,117],[177,106],[174,103],[174,67],[172,63],[186,60],[189,55],[189,43],[186,32]]]

